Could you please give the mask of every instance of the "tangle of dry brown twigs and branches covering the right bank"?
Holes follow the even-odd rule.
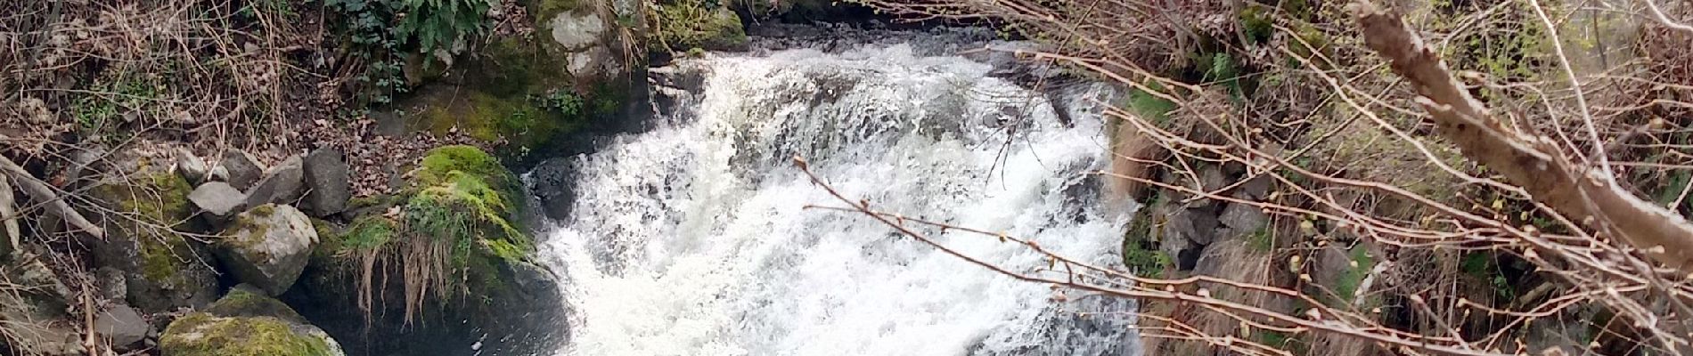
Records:
[[[1131,224],[1122,267],[1051,255],[1053,268],[1023,272],[960,255],[1141,299],[1148,354],[1693,348],[1693,3],[869,5],[987,20],[1048,44],[1019,52],[1029,59],[1128,88],[1106,103],[1117,157],[1100,174],[1144,209],[1216,201],[1270,216],[1204,250],[1246,265],[1151,265],[1163,278],[1131,273],[1146,268],[1134,255],[1161,253],[1134,243],[1156,245],[1144,229],[1163,221]],[[1239,174],[1214,184],[1216,167]],[[1261,179],[1270,194],[1239,194]],[[926,221],[841,202],[946,248],[914,229]]]

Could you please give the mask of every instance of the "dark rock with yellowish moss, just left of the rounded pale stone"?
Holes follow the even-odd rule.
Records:
[[[212,302],[217,277],[210,256],[181,231],[191,226],[190,186],[163,169],[108,177],[90,196],[110,213],[91,214],[108,231],[93,243],[97,265],[125,272],[129,302],[147,312]],[[115,175],[115,174],[108,174]]]

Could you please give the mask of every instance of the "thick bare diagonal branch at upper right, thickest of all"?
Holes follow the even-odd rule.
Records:
[[[1693,224],[1635,197],[1603,172],[1578,167],[1551,138],[1500,123],[1397,13],[1368,2],[1359,2],[1354,12],[1370,49],[1392,61],[1393,73],[1420,94],[1415,101],[1432,115],[1436,130],[1466,157],[1498,170],[1558,213],[1622,236],[1664,265],[1693,272]]]

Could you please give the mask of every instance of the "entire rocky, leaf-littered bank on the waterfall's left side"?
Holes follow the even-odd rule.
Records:
[[[0,155],[19,165],[0,175],[0,354],[550,353],[567,310],[533,228],[569,214],[560,157],[648,127],[653,62],[745,49],[762,22],[874,17],[824,2],[450,3],[464,7],[19,10],[64,13],[20,17],[61,32],[103,19],[240,49],[24,37],[49,56],[0,61],[74,78],[5,78],[51,94],[0,98]],[[185,25],[207,20],[242,32]],[[533,191],[516,179],[532,169]],[[14,196],[22,184],[54,196]]]

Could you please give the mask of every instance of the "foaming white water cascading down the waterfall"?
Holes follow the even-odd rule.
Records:
[[[1114,265],[1128,211],[1099,204],[1095,113],[1056,115],[990,64],[911,44],[713,54],[696,103],[577,157],[576,202],[543,255],[565,275],[559,354],[1133,354],[1133,305],[1058,302],[896,235],[791,164],[877,209],[1026,236]],[[1085,108],[1087,94],[1067,94]],[[1060,120],[1063,118],[1063,120]],[[992,236],[945,245],[1038,270]],[[1078,312],[1085,312],[1080,316]]]

